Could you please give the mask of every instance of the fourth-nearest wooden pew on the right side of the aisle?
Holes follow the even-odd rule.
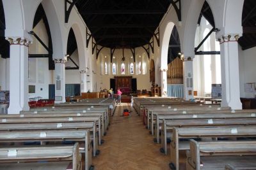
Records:
[[[159,143],[159,131],[161,132],[161,125],[163,124],[163,120],[186,120],[186,119],[201,119],[201,118],[208,118],[208,119],[216,119],[216,118],[256,118],[255,113],[221,113],[215,111],[214,113],[200,113],[200,114],[180,114],[180,115],[157,115],[156,118],[156,125],[155,125],[155,138],[154,141]]]

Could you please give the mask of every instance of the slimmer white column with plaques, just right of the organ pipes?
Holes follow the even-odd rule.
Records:
[[[183,84],[184,84],[184,100],[194,99],[193,92],[193,58],[182,57],[183,60]]]

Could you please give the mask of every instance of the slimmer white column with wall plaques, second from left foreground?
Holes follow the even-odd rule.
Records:
[[[63,103],[65,99],[65,59],[54,59],[55,62],[55,103]]]

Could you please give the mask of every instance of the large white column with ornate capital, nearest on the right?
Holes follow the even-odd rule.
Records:
[[[221,107],[242,109],[239,88],[239,60],[237,40],[239,34],[228,34],[218,38],[221,53]]]

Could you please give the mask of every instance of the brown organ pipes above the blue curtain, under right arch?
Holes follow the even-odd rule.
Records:
[[[183,62],[179,57],[168,64],[168,84],[183,84]]]

